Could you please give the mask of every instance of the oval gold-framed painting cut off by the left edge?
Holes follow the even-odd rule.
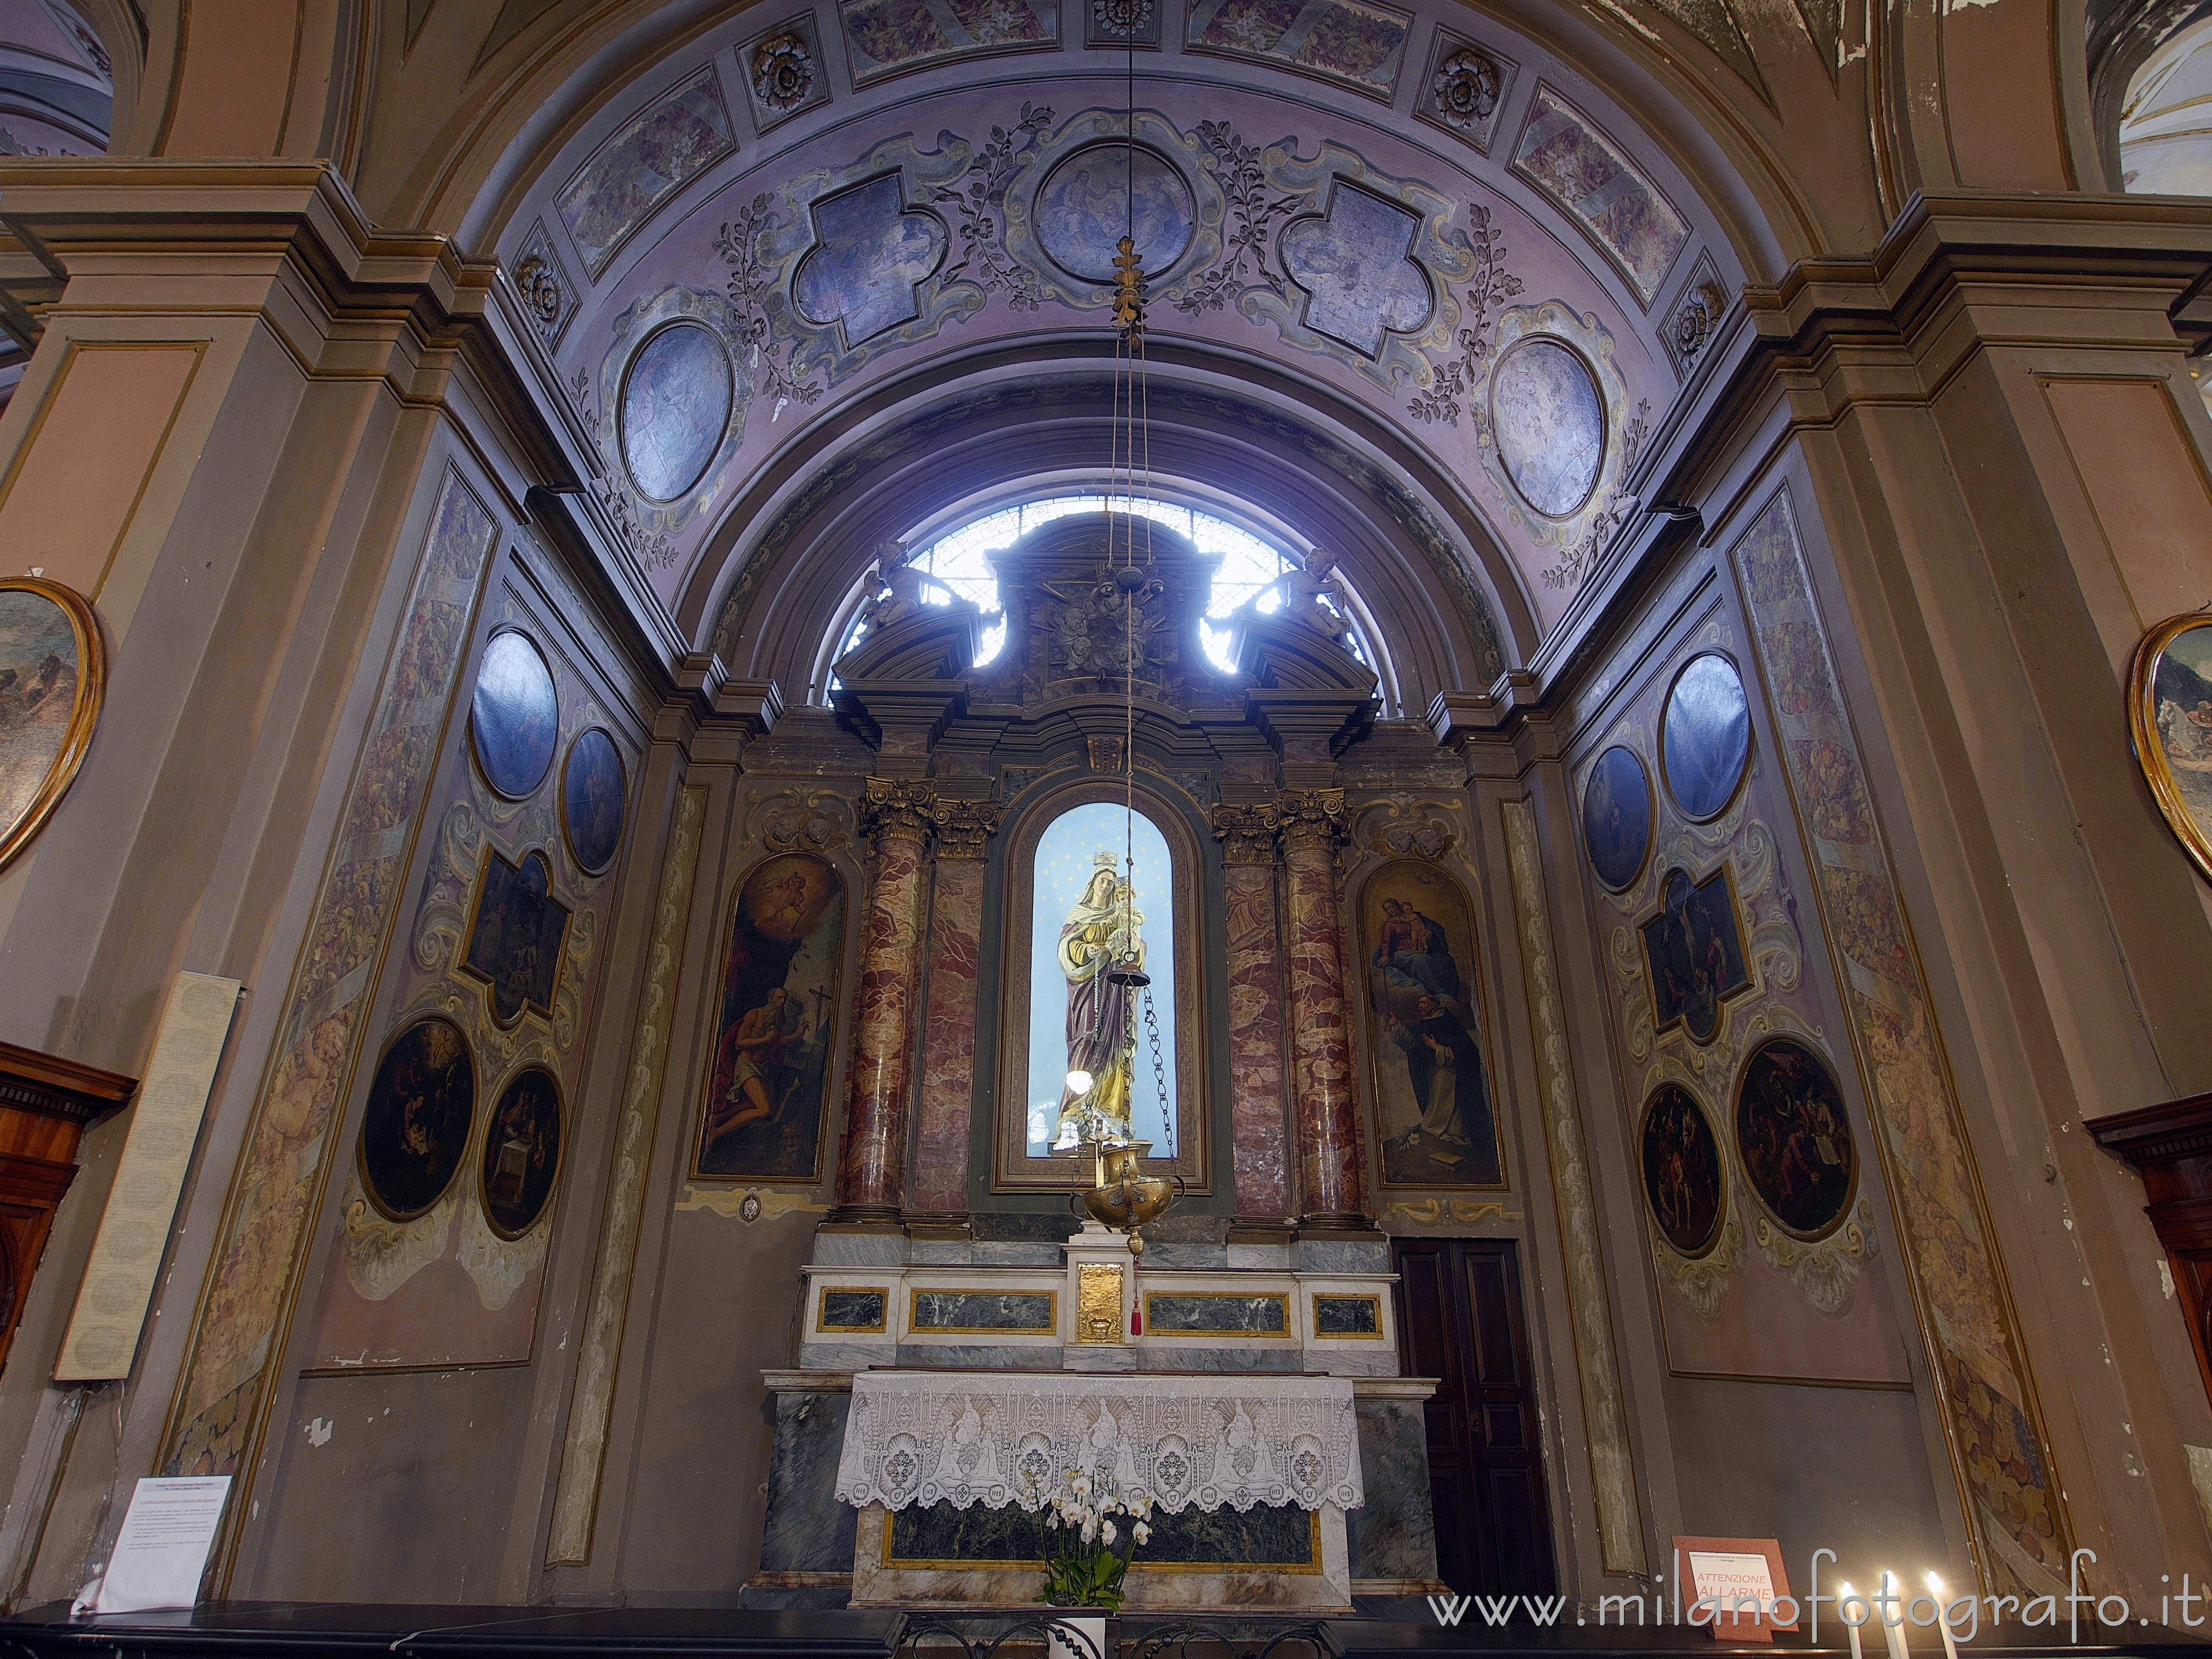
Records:
[[[60,661],[62,628],[55,624],[66,624],[73,661]],[[44,655],[33,664],[33,653]],[[58,668],[49,670],[49,661]],[[0,821],[0,869],[7,869],[69,794],[93,745],[93,728],[100,723],[100,706],[108,690],[108,655],[100,619],[75,588],[42,575],[0,580],[0,675],[7,675],[7,684],[0,686],[0,803],[22,803],[11,818]],[[55,719],[40,710],[60,688],[62,675],[71,677],[69,712]],[[31,697],[40,679],[51,684]],[[60,734],[46,750],[38,728],[55,726]],[[22,790],[22,783],[31,787]]]

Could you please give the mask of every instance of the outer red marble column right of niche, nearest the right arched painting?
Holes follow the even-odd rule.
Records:
[[[1285,790],[1274,803],[1283,836],[1290,936],[1292,1124],[1298,1206],[1307,1228],[1367,1228],[1360,1115],[1352,1086],[1345,949],[1336,847],[1345,838],[1343,790]]]

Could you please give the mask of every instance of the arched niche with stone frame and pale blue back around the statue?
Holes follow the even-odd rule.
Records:
[[[1060,973],[1055,956],[1075,905],[1060,891],[1068,885],[1060,876],[1066,874],[1077,883],[1075,891],[1079,894],[1079,887],[1093,878],[1091,858],[1097,852],[1108,852],[1119,865],[1124,805],[1130,805],[1139,821],[1150,827],[1150,836],[1157,838],[1155,849],[1166,854],[1168,863],[1168,905],[1161,907],[1159,898],[1148,891],[1148,863],[1139,849],[1137,907],[1144,914],[1141,931],[1148,958],[1166,969],[1166,973],[1155,973],[1152,989],[1159,993],[1155,1011],[1164,1046],[1172,1046],[1166,1064],[1175,1093],[1175,1155],[1168,1157],[1168,1148],[1159,1144],[1157,1135],[1144,1133],[1150,1121],[1144,1119],[1148,1091],[1141,1088],[1135,1113],[1137,1130],[1141,1139],[1155,1141],[1152,1155],[1146,1159],[1150,1172],[1179,1175],[1194,1194],[1212,1190],[1219,1159],[1210,1102],[1221,1095],[1221,1079],[1214,1077],[1214,1055],[1221,1053],[1214,1031],[1221,1020],[1214,1011],[1223,1006],[1221,951],[1214,949],[1221,938],[1221,878],[1219,867],[1206,858],[1194,830],[1194,803],[1177,796],[1172,785],[1148,781],[1139,768],[1135,785],[1128,779],[1102,774],[1071,781],[1046,779],[1018,796],[1009,814],[1009,825],[1000,836],[998,880],[987,896],[987,905],[995,909],[995,914],[987,914],[987,938],[995,940],[998,960],[995,982],[989,978],[991,964],[987,962],[987,987],[995,995],[987,991],[984,1006],[995,1018],[998,1071],[989,1115],[978,1121],[978,1133],[987,1137],[984,1144],[991,1148],[991,1188],[995,1192],[1046,1194],[1088,1183],[1088,1170],[1079,1159],[1035,1150],[1033,1128],[1042,1130],[1046,1144],[1057,1130],[1060,1093],[1064,1091],[1048,1088],[1048,1084],[1064,1082],[1068,1071],[1064,1042],[1053,1053],[1035,1053],[1035,1033],[1044,1029],[1048,1035],[1055,1024],[1037,1004],[1042,995],[1057,995],[1060,1002],[1051,1013],[1064,1015],[1068,1002],[1066,975]],[[1106,827],[1110,845],[1088,849],[1077,845],[1097,838],[1091,834],[1088,818],[1097,818]],[[1040,852],[1046,865],[1057,858],[1071,858],[1073,865],[1068,872],[1044,867],[1040,874]],[[1161,984],[1168,975],[1172,975],[1172,1000],[1170,989]],[[982,1037],[980,1031],[978,1048],[984,1046]],[[1141,1011],[1137,1064],[1141,1071],[1150,1071]],[[1037,1086],[1033,1088],[1033,1084]],[[1033,1126],[1031,1106],[1042,1102],[1051,1102],[1051,1106],[1044,1121]]]

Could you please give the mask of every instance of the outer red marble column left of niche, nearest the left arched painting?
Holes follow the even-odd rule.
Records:
[[[830,1221],[896,1221],[907,1175],[914,1086],[914,1004],[922,980],[922,894],[936,785],[869,779],[860,830],[869,838],[860,995],[845,1068],[845,1150]]]

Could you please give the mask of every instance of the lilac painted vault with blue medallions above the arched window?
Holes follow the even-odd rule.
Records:
[[[1517,566],[1491,580],[1546,630],[1566,613],[1635,509],[1652,411],[1732,299],[1725,250],[1699,250],[1650,146],[1520,44],[1369,0],[1197,0],[1181,31],[1139,13],[1139,40],[1166,33],[1208,75],[1203,58],[1241,58],[1363,97],[1325,111],[1296,80],[1139,73],[1130,131],[1097,82],[1009,58],[1060,51],[1046,0],[843,0],[611,119],[518,217],[526,301],[602,436],[595,489],[664,599],[761,462],[876,378],[947,345],[1110,330],[1133,232],[1155,343],[1272,356],[1394,420]],[[734,135],[967,58],[998,64],[978,69],[989,84],[816,117],[792,142]],[[1365,97],[1422,119],[1358,115]],[[1677,327],[1677,310],[1697,316]]]

